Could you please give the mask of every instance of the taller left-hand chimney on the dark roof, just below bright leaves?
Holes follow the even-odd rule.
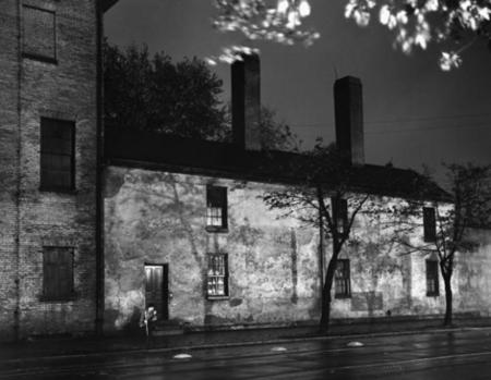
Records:
[[[232,137],[241,149],[261,150],[261,77],[258,54],[231,65]]]

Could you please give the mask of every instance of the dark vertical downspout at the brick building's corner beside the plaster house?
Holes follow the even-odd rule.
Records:
[[[96,49],[97,49],[97,84],[96,84],[96,319],[95,332],[97,335],[104,333],[104,68],[103,68],[103,38],[104,38],[104,13],[103,1],[94,0],[96,12]]]

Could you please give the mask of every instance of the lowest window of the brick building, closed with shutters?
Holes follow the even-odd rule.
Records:
[[[70,260],[68,262],[68,267],[70,268],[69,273],[62,273],[60,274],[60,271],[64,269],[64,265],[61,262],[56,262],[53,266],[55,269],[48,270],[48,265],[52,263],[52,258],[48,259],[48,253],[57,253],[64,252],[65,255],[69,255]],[[51,262],[49,262],[51,261]],[[52,285],[49,284],[50,281],[55,281],[52,277],[52,271],[55,270],[57,272],[58,283]],[[40,301],[43,302],[70,302],[75,299],[75,278],[74,278],[74,271],[75,271],[75,248],[71,246],[44,246],[43,247],[43,293],[40,296]],[[60,279],[68,279],[68,286],[63,283]],[[62,290],[63,292],[60,294],[51,294],[50,289],[58,289]]]

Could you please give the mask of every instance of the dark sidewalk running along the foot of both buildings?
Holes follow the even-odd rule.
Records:
[[[466,328],[491,327],[491,318],[455,319],[453,328],[443,328],[440,319],[387,320],[364,322],[334,322],[328,336],[321,335],[318,327],[244,329],[233,331],[187,332],[181,335],[156,336],[153,350],[193,350],[201,347],[237,346],[274,342],[334,339],[360,334],[406,334],[441,332]],[[100,355],[146,350],[145,336],[139,334],[115,336],[84,336],[38,339],[26,342],[1,343],[0,363],[52,356]]]

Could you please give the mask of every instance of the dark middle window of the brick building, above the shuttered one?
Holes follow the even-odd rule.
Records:
[[[72,191],[74,188],[75,123],[41,118],[40,188]]]

